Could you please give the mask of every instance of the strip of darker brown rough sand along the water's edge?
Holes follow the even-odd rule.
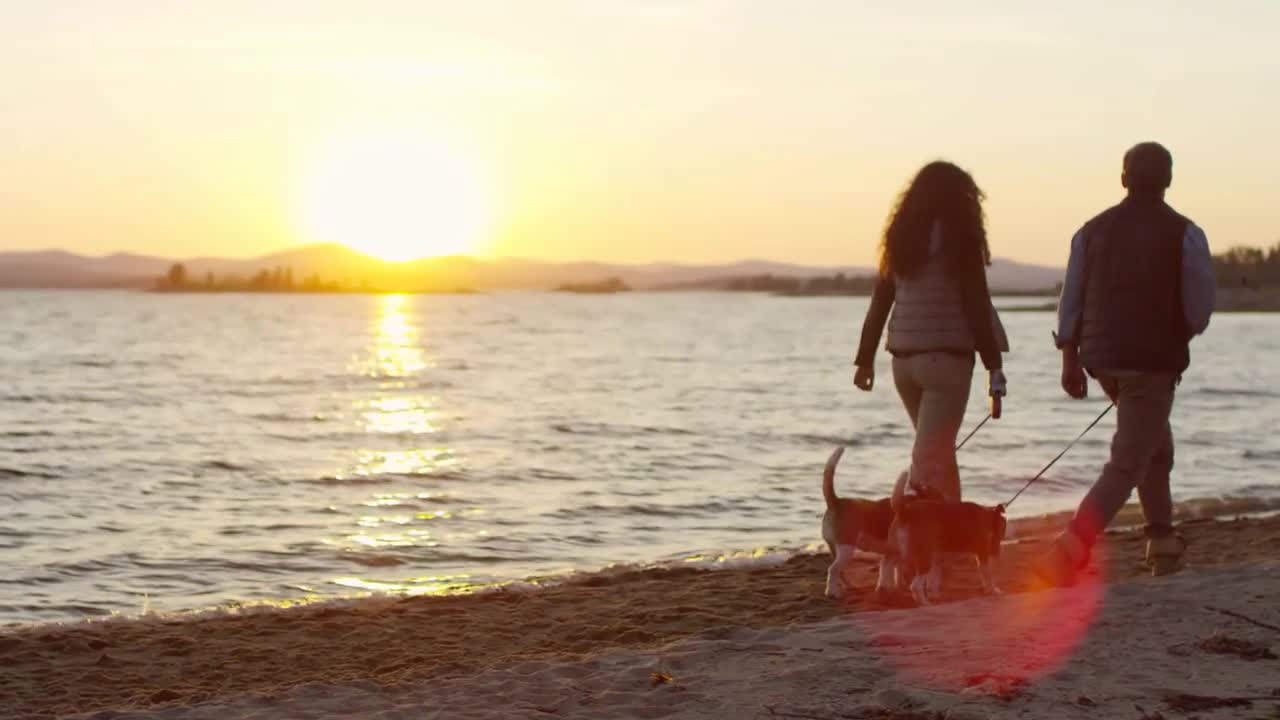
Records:
[[[1051,529],[1044,530],[1006,543],[997,566],[1006,597],[1036,589],[1027,569],[1047,548]],[[1276,516],[1194,519],[1180,530],[1190,541],[1193,566],[1280,559]],[[1144,574],[1137,532],[1110,530],[1100,547],[1105,550],[1097,553],[1096,578],[1121,582]],[[521,592],[8,628],[0,630],[0,665],[6,670],[0,676],[0,715],[178,712],[197,703],[302,692],[317,683],[466,683],[511,664],[654,653],[732,628],[790,632],[861,614],[934,610],[902,610],[901,601],[878,605],[863,593],[846,605],[833,603],[822,596],[827,562],[820,552],[714,571],[622,570]],[[869,588],[876,560],[860,556],[854,565],[855,585]],[[955,573],[954,584],[948,580],[941,607],[988,602],[973,600],[978,582],[966,570]]]

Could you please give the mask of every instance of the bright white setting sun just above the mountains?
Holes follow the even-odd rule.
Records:
[[[305,168],[298,213],[310,242],[402,261],[474,252],[489,223],[474,163],[429,132],[335,136]]]

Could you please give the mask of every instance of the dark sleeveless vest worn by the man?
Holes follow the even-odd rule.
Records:
[[[1085,368],[1181,373],[1190,364],[1181,290],[1188,223],[1164,200],[1134,196],[1085,223]]]

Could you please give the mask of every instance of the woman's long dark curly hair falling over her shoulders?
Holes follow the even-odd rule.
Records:
[[[936,160],[920,168],[899,196],[881,241],[881,275],[910,277],[929,256],[933,223],[942,223],[942,250],[952,268],[973,252],[991,264],[982,211],[986,199],[973,176]]]

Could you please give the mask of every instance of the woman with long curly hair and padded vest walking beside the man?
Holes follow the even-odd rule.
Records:
[[[1009,341],[987,288],[983,197],[973,177],[951,163],[929,163],[916,173],[884,229],[879,279],[854,360],[854,384],[870,391],[888,319],[893,384],[915,428],[910,483],[932,486],[952,501],[960,500],[955,443],[975,352],[992,395],[1005,392],[1001,352]],[[895,488],[895,497],[904,489]]]

